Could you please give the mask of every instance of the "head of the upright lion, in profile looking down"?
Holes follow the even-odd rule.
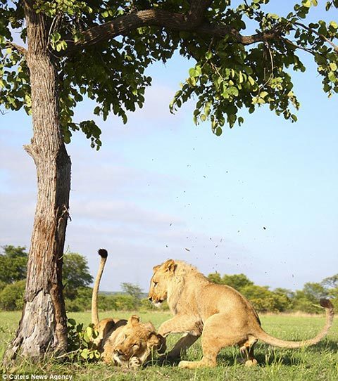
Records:
[[[168,259],[163,264],[159,264],[153,268],[154,275],[150,281],[148,299],[155,305],[159,306],[168,297],[168,288],[175,275],[177,264],[173,259]]]

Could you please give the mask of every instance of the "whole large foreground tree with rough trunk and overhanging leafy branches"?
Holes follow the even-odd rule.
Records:
[[[286,17],[265,12],[268,0],[80,1],[0,0],[0,104],[32,115],[25,150],[37,167],[37,207],[30,243],[23,315],[6,358],[41,359],[46,349],[67,348],[62,295],[65,230],[69,217],[70,158],[65,143],[81,130],[101,146],[92,120],[73,122],[73,109],[88,96],[94,113],[127,122],[127,111],[144,103],[151,78],[144,70],[175,51],[196,65],[177,91],[175,111],[196,98],[194,121],[212,131],[242,124],[242,109],[267,104],[295,121],[290,69],[304,71],[299,51],[311,54],[329,95],[338,91],[336,22],[306,23],[317,0],[302,0]],[[326,9],[338,8],[337,0]],[[251,23],[254,34],[245,35]],[[15,32],[27,46],[13,41]],[[44,318],[37,321],[37,316]],[[34,327],[34,329],[33,329]],[[25,337],[25,340],[23,338]]]

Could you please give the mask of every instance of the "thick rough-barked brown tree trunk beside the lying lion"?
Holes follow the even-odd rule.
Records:
[[[62,264],[70,193],[70,158],[62,139],[56,70],[47,49],[43,15],[25,1],[27,65],[32,89],[33,137],[25,146],[37,168],[37,207],[27,265],[25,302],[5,361],[18,354],[37,361],[67,348]]]

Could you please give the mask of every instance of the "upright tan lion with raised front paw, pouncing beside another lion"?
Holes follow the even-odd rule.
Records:
[[[284,348],[317,344],[327,334],[334,316],[332,303],[321,299],[320,304],[326,309],[326,323],[317,336],[302,342],[277,339],[261,328],[258,314],[243,295],[227,285],[212,283],[195,267],[173,259],[154,267],[149,299],[155,305],[167,300],[174,315],[160,326],[160,335],[185,333],[169,352],[169,358],[180,358],[201,336],[203,359],[180,361],[181,368],[215,366],[220,349],[234,344],[239,345],[246,366],[257,363],[253,346],[258,340]]]

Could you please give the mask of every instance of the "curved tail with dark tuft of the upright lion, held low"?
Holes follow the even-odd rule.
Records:
[[[255,337],[258,340],[262,340],[263,342],[266,342],[267,344],[273,345],[275,347],[281,347],[281,348],[301,348],[301,347],[308,347],[309,345],[317,344],[318,342],[320,342],[320,340],[323,339],[323,337],[325,337],[325,335],[327,335],[327,332],[329,331],[332,325],[333,316],[334,316],[333,305],[329,299],[320,299],[320,305],[326,309],[325,326],[318,333],[317,336],[313,337],[313,339],[303,340],[301,342],[280,340],[273,336],[268,335],[268,333],[266,333],[263,329],[258,330],[258,332],[255,333]]]

